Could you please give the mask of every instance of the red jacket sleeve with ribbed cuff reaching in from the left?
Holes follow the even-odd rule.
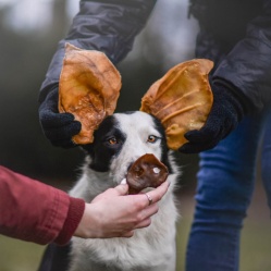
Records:
[[[62,245],[72,237],[84,208],[84,200],[0,165],[0,234]]]

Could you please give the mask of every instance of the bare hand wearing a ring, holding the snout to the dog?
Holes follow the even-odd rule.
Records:
[[[127,195],[127,184],[118,185],[86,204],[75,236],[83,238],[132,237],[135,229],[150,225],[150,217],[158,212],[158,201],[169,188],[165,181],[158,188],[145,194]]]

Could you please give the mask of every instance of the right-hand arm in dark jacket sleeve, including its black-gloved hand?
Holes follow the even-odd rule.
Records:
[[[188,132],[185,153],[213,148],[246,114],[271,102],[271,0],[264,0],[262,14],[247,25],[239,40],[217,67],[212,78],[213,107],[205,126]]]

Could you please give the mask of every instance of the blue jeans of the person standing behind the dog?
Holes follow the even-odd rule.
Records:
[[[262,135],[262,180],[271,207],[271,112],[244,119],[215,148],[200,153],[186,271],[238,270],[241,229]]]

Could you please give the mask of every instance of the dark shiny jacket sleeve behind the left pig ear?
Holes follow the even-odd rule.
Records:
[[[42,102],[58,84],[65,42],[102,51],[116,64],[132,49],[135,36],[145,26],[156,0],[81,0],[66,38],[59,42],[40,89]]]

